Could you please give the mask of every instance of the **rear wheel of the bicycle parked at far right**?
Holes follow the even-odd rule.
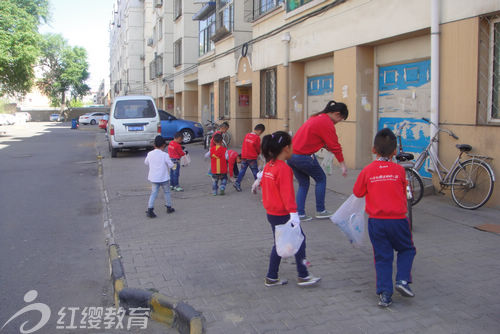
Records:
[[[451,175],[451,195],[461,208],[474,210],[486,203],[493,192],[494,177],[489,165],[470,159],[459,164]]]

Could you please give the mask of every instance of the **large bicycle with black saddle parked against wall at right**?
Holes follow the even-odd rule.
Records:
[[[490,199],[495,185],[495,174],[488,164],[488,161],[493,160],[493,158],[470,154],[469,152],[472,151],[471,145],[457,144],[455,146],[459,150],[458,156],[451,167],[446,168],[432,150],[433,143],[439,141],[440,132],[447,133],[455,140],[459,138],[451,130],[440,128],[425,117],[422,120],[436,127],[438,131],[431,138],[424,151],[420,153],[413,168],[419,170],[425,160],[429,158],[432,165],[430,171],[439,178],[440,193],[448,187],[451,188],[453,201],[463,209],[475,210],[483,206]],[[462,158],[464,154],[468,157],[466,160]]]

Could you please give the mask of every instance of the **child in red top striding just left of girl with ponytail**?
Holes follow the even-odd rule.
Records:
[[[253,173],[254,179],[257,179],[259,167],[257,166],[257,158],[260,154],[260,135],[266,130],[264,124],[257,124],[253,132],[248,133],[243,139],[241,147],[241,170],[238,174],[238,179],[233,184],[237,191],[241,191],[241,180],[245,176],[247,168]]]

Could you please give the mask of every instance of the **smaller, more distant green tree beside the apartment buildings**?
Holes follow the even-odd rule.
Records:
[[[87,51],[68,45],[59,34],[45,34],[41,43],[40,65],[43,77],[37,82],[53,106],[66,104],[66,94],[81,98],[90,91],[85,83],[89,78]]]

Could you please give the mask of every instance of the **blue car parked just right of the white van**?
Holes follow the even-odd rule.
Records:
[[[173,139],[176,132],[182,133],[182,142],[190,143],[195,138],[203,138],[201,123],[178,119],[165,110],[158,110],[161,120],[161,135],[163,138]]]

